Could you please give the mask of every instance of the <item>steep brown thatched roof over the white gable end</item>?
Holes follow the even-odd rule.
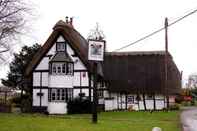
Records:
[[[31,75],[32,71],[36,68],[36,66],[39,64],[41,59],[45,56],[45,54],[49,51],[49,49],[53,46],[53,44],[56,42],[59,35],[62,35],[64,39],[69,43],[71,48],[75,51],[75,53],[80,57],[83,64],[88,67],[88,70],[90,71],[92,69],[91,63],[88,62],[88,43],[84,39],[83,36],[80,35],[79,32],[77,32],[73,26],[70,26],[68,23],[60,20],[56,23],[56,25],[53,28],[53,32],[47,39],[47,41],[44,43],[42,48],[35,54],[32,61],[26,68],[25,75],[29,76]]]

